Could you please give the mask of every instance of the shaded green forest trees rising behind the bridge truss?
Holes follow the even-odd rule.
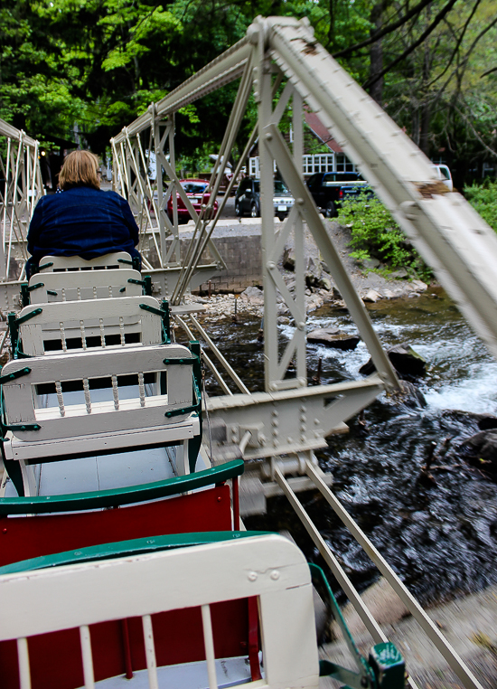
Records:
[[[258,14],[316,37],[455,183],[497,168],[495,0],[0,0],[0,118],[48,148],[110,137],[246,33]],[[178,151],[220,143],[236,85],[178,117]],[[246,130],[255,117],[248,109]],[[240,137],[243,137],[241,132]],[[244,142],[240,138],[240,146]]]

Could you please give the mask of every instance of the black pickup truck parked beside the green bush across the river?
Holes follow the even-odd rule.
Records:
[[[369,197],[373,195],[369,184],[359,173],[315,173],[307,180],[307,186],[318,210],[326,218],[334,218],[342,201],[353,199],[362,191],[366,191]]]

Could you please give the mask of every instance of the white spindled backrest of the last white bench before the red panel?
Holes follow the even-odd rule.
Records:
[[[86,437],[95,440],[96,449],[100,434],[159,432],[192,414],[193,361],[180,344],[13,360],[2,370],[4,380],[14,374],[2,385],[6,421],[22,441]],[[122,443],[126,446],[126,439]],[[59,446],[45,452],[63,453],[64,442]]]

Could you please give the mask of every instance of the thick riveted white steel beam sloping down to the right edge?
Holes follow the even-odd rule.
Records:
[[[314,38],[305,21],[258,18],[248,29],[319,114],[387,205],[475,332],[497,355],[497,236],[387,113]]]

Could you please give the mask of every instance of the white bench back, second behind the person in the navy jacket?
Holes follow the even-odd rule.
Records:
[[[141,297],[141,274],[133,269],[85,270],[65,273],[39,273],[30,278],[27,293],[31,304],[54,301],[80,301],[112,297]]]

